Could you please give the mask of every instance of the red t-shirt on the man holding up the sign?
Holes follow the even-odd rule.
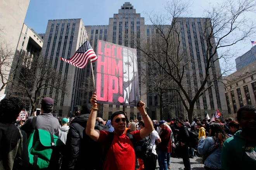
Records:
[[[109,132],[100,131],[99,143],[104,145]],[[131,132],[135,142],[142,140],[140,138],[140,131]],[[126,134],[114,133],[114,139],[107,151],[107,155],[104,161],[103,170],[134,170],[135,169],[135,151],[131,140]]]

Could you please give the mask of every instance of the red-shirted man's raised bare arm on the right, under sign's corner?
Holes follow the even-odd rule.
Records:
[[[139,107],[137,107],[137,109],[139,110],[145,124],[145,128],[140,130],[140,138],[142,139],[144,139],[147,135],[149,135],[154,130],[153,123],[150,117],[147,115],[144,107],[145,107],[145,103],[143,103],[140,100]]]

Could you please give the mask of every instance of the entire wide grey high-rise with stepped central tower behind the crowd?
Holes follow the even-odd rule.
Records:
[[[187,81],[189,81],[187,83],[190,85],[189,93],[191,94],[198,90],[201,77],[205,74],[207,45],[206,42],[203,42],[201,24],[204,23],[204,20],[203,18],[180,18],[179,27],[182,30],[180,38],[183,40],[183,50],[187,50],[187,53],[190,54],[190,58],[188,58],[190,66],[187,68],[188,71],[186,73]],[[64,29],[62,29],[62,26],[64,26]],[[57,104],[59,106],[59,110],[57,110],[59,116],[69,116],[69,111],[73,112],[75,106],[79,107],[89,103],[93,92],[92,84],[90,83],[92,81],[90,80],[92,76],[90,65],[83,69],[75,68],[72,65],[63,63],[60,59],[61,56],[69,59],[70,55],[73,55],[87,38],[96,51],[99,40],[135,48],[134,44],[137,43],[135,39],[140,40],[138,43],[144,43],[145,41],[150,41],[150,37],[156,33],[157,29],[152,25],[145,25],[144,17],[136,13],[130,2],[125,2],[118,10],[118,14],[114,14],[112,18],[109,18],[108,25],[83,26],[81,19],[49,20],[46,33],[40,34],[44,40],[42,51],[52,58],[52,62],[55,63],[57,69],[62,71],[62,74],[70,77],[70,95],[59,96],[60,102]],[[138,63],[141,63],[140,55],[141,52],[137,49]],[[92,65],[94,69],[95,63],[92,63]],[[148,68],[146,65],[140,66],[145,67],[145,70]],[[214,63],[211,72],[220,73],[220,64],[218,62]],[[159,120],[159,97],[152,92],[152,89],[148,89],[141,83],[140,68],[138,68],[138,75],[141,100],[146,103],[147,112],[151,119]],[[47,92],[41,93],[47,95]],[[207,113],[214,114],[217,109],[223,114],[223,112],[227,111],[224,94],[223,85],[215,82],[213,87],[199,98],[195,110],[202,117]],[[168,93],[164,97],[172,98],[173,96],[175,96],[173,93]],[[141,119],[136,107],[111,104],[101,105],[98,116],[110,119],[112,113],[116,110],[125,111],[130,119]],[[164,109],[163,119],[170,120],[173,117],[184,116],[184,110],[182,103],[177,102]]]

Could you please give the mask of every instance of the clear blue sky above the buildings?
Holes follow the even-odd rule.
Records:
[[[118,13],[118,9],[125,2],[130,2],[145,17],[145,12],[160,13],[164,11],[166,0],[30,0],[28,12],[24,23],[33,28],[38,34],[45,33],[47,22],[50,19],[73,19],[81,18],[85,25],[108,25],[109,18]],[[222,0],[194,0],[190,7],[191,17],[203,17],[204,9],[216,5]],[[146,24],[150,24],[146,21]],[[256,37],[252,39],[256,41]],[[239,52],[230,60],[233,66],[235,58],[247,52],[251,48],[250,40],[247,39],[236,45]]]

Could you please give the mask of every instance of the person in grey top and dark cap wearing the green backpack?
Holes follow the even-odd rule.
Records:
[[[36,118],[35,128],[42,129],[54,134],[55,136],[59,136],[60,124],[58,119],[52,115],[53,107],[54,100],[52,98],[45,97],[42,99],[40,105],[41,114]],[[28,137],[31,133],[32,119],[33,117],[29,117],[23,126],[21,126],[21,129],[27,133]]]

